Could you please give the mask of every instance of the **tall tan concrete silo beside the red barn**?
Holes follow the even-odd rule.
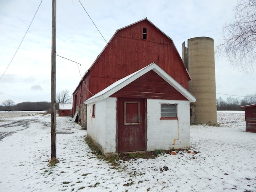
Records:
[[[188,39],[182,44],[182,59],[192,78],[188,90],[197,98],[190,105],[191,124],[217,124],[214,40]]]

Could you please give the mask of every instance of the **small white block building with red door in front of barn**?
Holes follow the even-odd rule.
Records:
[[[87,136],[106,156],[190,148],[190,102],[195,101],[152,63],[84,102]]]

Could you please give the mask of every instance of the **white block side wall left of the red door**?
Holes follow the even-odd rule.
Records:
[[[95,104],[95,117],[92,105]],[[103,153],[116,152],[116,98],[106,98],[87,105],[87,135],[100,145]]]

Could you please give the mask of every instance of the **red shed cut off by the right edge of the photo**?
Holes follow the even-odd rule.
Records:
[[[246,128],[248,132],[256,133],[256,104],[241,106],[244,109]]]

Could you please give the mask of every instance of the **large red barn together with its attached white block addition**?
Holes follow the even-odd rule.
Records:
[[[106,155],[190,148],[190,80],[172,39],[145,18],[117,30],[86,71],[73,116]]]

